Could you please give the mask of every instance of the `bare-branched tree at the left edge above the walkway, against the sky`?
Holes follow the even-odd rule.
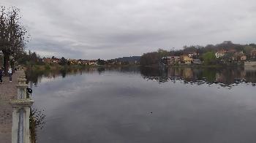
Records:
[[[23,53],[27,36],[26,28],[20,23],[20,9],[16,7],[0,7],[0,50],[4,54],[4,72],[7,74],[8,66],[12,66],[10,56],[17,60]]]

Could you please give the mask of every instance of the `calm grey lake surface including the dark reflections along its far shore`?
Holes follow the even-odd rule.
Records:
[[[83,69],[30,73],[37,142],[255,143],[256,70]]]

